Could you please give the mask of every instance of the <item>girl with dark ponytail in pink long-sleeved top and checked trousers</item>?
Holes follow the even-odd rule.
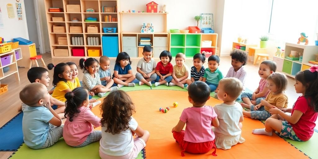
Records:
[[[100,118],[88,108],[88,91],[77,87],[65,94],[65,125],[63,137],[67,145],[83,147],[92,142],[99,141],[101,131],[94,130],[100,126]]]

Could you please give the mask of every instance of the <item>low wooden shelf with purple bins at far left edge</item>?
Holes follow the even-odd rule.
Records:
[[[17,61],[22,59],[21,49],[20,48],[16,48],[16,49],[12,49],[9,52],[5,52],[5,53],[0,54],[1,57],[8,56],[8,55],[13,58],[12,62],[10,64],[3,65],[1,60],[0,60],[0,80],[4,79],[4,78],[6,78],[6,77],[8,77],[8,76],[10,76],[12,74],[15,74],[17,80],[20,80],[18,66],[17,66]],[[9,71],[8,72],[3,72],[3,68],[4,67],[9,67]]]

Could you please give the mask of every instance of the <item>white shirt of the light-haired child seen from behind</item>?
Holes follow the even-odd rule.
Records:
[[[215,128],[215,132],[220,136],[236,136],[241,134],[239,119],[243,115],[243,108],[235,102],[234,105],[219,104],[213,107],[220,125]]]

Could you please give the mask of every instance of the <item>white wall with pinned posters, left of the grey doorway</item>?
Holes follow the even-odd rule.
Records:
[[[9,18],[7,11],[7,4],[11,3],[14,8],[14,18]],[[0,0],[1,15],[4,23],[4,28],[0,29],[0,36],[4,38],[5,41],[12,40],[13,38],[25,38],[29,39],[28,27],[26,24],[24,0],[20,0],[19,3],[22,5],[23,20],[18,20],[16,0]]]

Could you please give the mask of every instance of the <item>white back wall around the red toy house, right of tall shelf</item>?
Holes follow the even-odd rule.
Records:
[[[120,0],[120,10],[144,10],[146,12],[146,4],[149,0]],[[162,10],[163,4],[166,4],[167,15],[167,31],[169,29],[188,30],[188,26],[197,26],[194,16],[201,13],[213,13],[214,24],[216,21],[216,2],[217,0],[193,1],[193,0],[160,0],[154,1],[158,3],[158,11]],[[140,31],[142,23],[153,23],[155,32],[162,32],[163,16],[154,15],[123,15],[123,31]],[[216,30],[216,33],[217,30]]]

